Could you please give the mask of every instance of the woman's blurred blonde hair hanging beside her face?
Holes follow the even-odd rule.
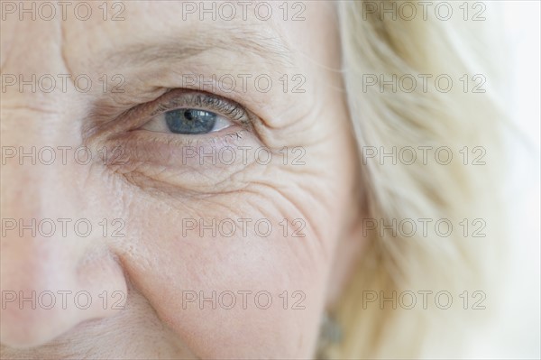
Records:
[[[344,87],[361,158],[367,146],[390,152],[411,146],[447,146],[454,159],[446,165],[417,162],[406,165],[369,159],[362,164],[362,188],[367,204],[365,217],[391,224],[393,219],[448,219],[454,229],[448,237],[424,236],[419,229],[410,237],[390,231],[371,234],[353,282],[336,307],[335,318],[344,338],[326,348],[330,358],[390,358],[418,356],[458,356],[468,333],[464,331],[483,318],[490,318],[498,297],[494,292],[497,264],[503,237],[498,191],[502,165],[502,112],[498,92],[499,69],[487,65],[481,41],[484,23],[464,22],[462,14],[449,21],[425,20],[417,3],[415,19],[368,12],[365,1],[340,2],[338,20],[343,48]],[[376,5],[390,2],[375,2]],[[405,2],[392,2],[397,6]],[[447,3],[448,4],[448,3]],[[437,3],[436,3],[437,5]],[[454,5],[454,9],[457,9]],[[487,46],[489,45],[489,46]],[[491,56],[494,53],[491,52]],[[498,56],[498,55],[496,55]],[[499,58],[500,60],[501,58]],[[482,64],[482,65],[481,65]],[[484,94],[464,92],[458,79],[482,74],[487,82]],[[378,78],[377,86],[366,87],[366,75]],[[455,80],[448,92],[425,91],[417,84],[411,92],[381,92],[380,77],[396,75],[445,74]],[[372,77],[373,78],[373,77]],[[433,80],[431,80],[433,81]],[[470,158],[464,164],[458,153],[468,146],[484,152],[485,165],[475,166]],[[372,148],[372,149],[373,149]],[[458,156],[457,156],[458,155]],[[486,225],[485,237],[463,233],[458,224],[474,219]],[[432,222],[431,224],[434,224]],[[464,236],[465,235],[465,236]],[[413,309],[390,303],[371,306],[363,302],[367,291],[390,297],[402,291],[433,291],[427,309]],[[383,292],[381,292],[383,291]],[[455,302],[451,309],[434,305],[437,291],[448,291]],[[464,297],[472,301],[472,291],[485,295],[481,311],[463,309]],[[372,294],[374,292],[371,292]],[[478,293],[480,294],[480,293]],[[481,294],[481,296],[482,296]],[[457,302],[460,301],[460,304]]]

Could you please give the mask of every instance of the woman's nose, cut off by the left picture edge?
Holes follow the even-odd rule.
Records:
[[[13,140],[17,135],[11,129],[32,124],[39,115],[15,115],[17,121],[9,119],[9,112],[4,115],[3,125],[13,136],[3,138],[3,151],[10,157],[3,156],[0,165],[0,341],[12,347],[39,346],[87,320],[123,309],[126,283],[107,248],[111,231],[104,229],[111,221],[96,216],[99,195],[87,183],[92,182],[90,169],[32,159],[29,149],[35,148],[38,156],[43,146]],[[12,157],[13,149],[26,157]]]

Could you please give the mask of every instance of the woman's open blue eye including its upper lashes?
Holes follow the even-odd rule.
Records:
[[[142,126],[157,133],[199,135],[215,133],[234,122],[246,123],[242,106],[223,97],[202,93],[177,93],[159,102],[158,115]]]

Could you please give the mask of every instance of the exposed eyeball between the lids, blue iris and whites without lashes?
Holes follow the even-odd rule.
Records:
[[[142,129],[173,134],[208,134],[231,126],[231,122],[222,115],[213,112],[181,108],[156,115]]]

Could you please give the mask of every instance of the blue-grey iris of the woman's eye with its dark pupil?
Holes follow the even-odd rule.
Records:
[[[179,109],[165,113],[167,125],[174,134],[207,134],[215,126],[214,113],[198,109]]]

